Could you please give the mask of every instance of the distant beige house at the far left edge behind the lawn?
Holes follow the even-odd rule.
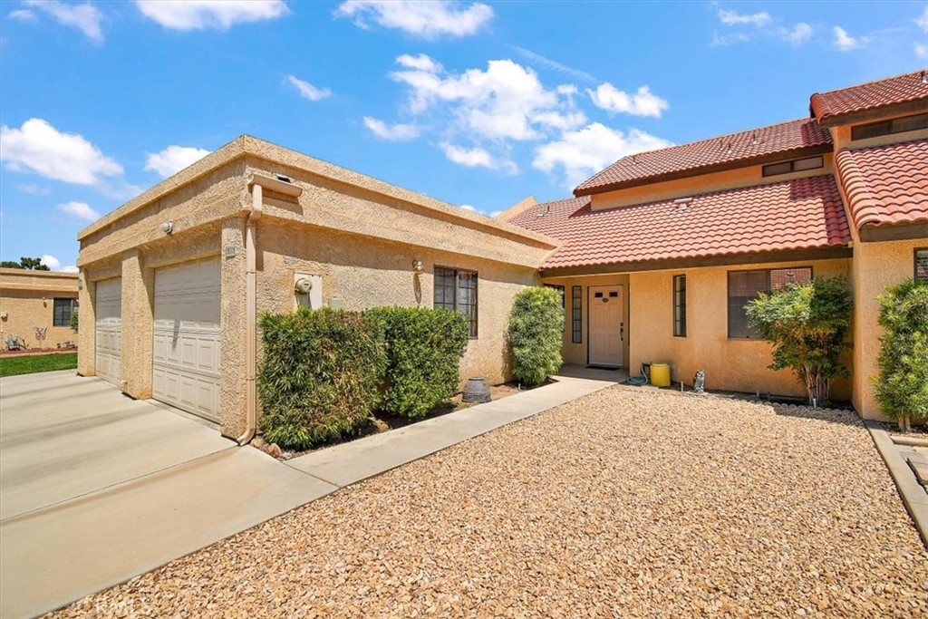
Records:
[[[0,352],[10,338],[30,349],[76,343],[77,287],[77,273],[0,268]]]

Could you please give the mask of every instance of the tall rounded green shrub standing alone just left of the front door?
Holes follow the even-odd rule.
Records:
[[[553,288],[535,286],[516,295],[508,336],[517,380],[536,385],[561,369],[562,303],[561,293]]]

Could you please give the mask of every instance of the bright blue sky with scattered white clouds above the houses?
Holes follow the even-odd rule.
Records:
[[[491,214],[928,66],[928,2],[0,1],[0,258],[250,134]]]

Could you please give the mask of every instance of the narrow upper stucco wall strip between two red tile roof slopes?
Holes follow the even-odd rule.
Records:
[[[806,157],[818,157],[818,155],[804,155],[798,157],[787,157],[783,161],[792,161],[793,159],[806,159]],[[749,165],[735,170],[724,170],[711,174],[699,174],[672,181],[661,183],[651,183],[639,187],[628,187],[625,189],[616,189],[614,191],[605,191],[594,194],[590,202],[590,208],[613,209],[630,204],[640,204],[642,202],[652,202],[657,200],[673,200],[694,196],[696,194],[708,193],[711,191],[720,191],[722,189],[731,189],[734,187],[751,187],[755,185],[769,185],[772,183],[782,183],[793,180],[794,178],[806,178],[808,176],[820,176],[822,174],[831,174],[833,171],[834,155],[831,152],[823,156],[824,167],[815,170],[806,170],[795,172],[793,174],[777,174],[775,176],[765,176],[763,174],[763,165]]]

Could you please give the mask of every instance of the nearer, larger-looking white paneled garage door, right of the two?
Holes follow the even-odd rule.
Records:
[[[155,399],[219,420],[219,259],[155,271]]]

